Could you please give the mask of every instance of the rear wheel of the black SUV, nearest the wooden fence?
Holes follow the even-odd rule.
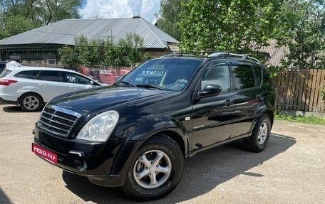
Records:
[[[244,144],[249,151],[261,152],[267,147],[269,135],[271,133],[271,120],[267,114],[259,118],[252,131],[252,136],[244,139]]]

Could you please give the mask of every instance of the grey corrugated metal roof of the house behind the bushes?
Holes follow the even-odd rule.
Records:
[[[88,40],[101,38],[113,41],[136,33],[144,40],[145,48],[167,48],[167,43],[179,43],[143,18],[67,19],[21,33],[0,41],[0,45],[64,44],[74,45],[74,38],[86,36]]]

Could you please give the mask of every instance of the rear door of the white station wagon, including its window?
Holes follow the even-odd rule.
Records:
[[[53,97],[67,92],[63,82],[62,72],[57,70],[41,70],[35,80],[35,86],[41,93],[43,100],[48,102]]]

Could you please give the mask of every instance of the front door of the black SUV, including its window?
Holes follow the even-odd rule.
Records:
[[[203,73],[197,90],[206,85],[220,85],[222,92],[193,101],[192,150],[225,141],[232,134],[234,92],[230,87],[229,65],[212,63]]]

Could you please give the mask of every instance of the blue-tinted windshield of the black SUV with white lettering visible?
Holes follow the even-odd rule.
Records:
[[[158,58],[149,60],[118,82],[122,86],[136,86],[160,90],[184,90],[201,60]]]

